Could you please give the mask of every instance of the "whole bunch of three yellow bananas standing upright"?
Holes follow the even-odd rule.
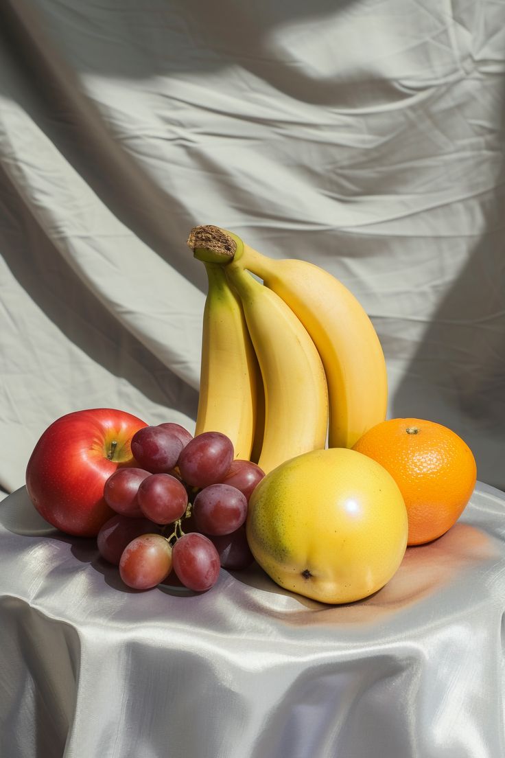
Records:
[[[384,421],[384,354],[341,282],[219,227],[195,227],[188,245],[209,279],[196,434],[222,431],[268,473],[326,440],[352,447]]]

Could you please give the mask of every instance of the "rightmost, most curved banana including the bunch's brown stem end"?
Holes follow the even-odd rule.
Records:
[[[372,322],[347,287],[312,263],[267,258],[219,227],[195,227],[191,239],[195,246],[204,241],[216,262],[232,261],[263,279],[304,324],[326,372],[330,447],[352,447],[384,421],[384,354]]]

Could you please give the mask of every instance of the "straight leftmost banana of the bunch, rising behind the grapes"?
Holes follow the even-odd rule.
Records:
[[[223,267],[206,262],[205,268],[209,287],[195,434],[220,431],[232,440],[235,458],[249,460],[260,371],[242,305]]]

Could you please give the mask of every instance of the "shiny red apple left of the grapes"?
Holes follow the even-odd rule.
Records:
[[[68,413],[51,424],[26,466],[26,489],[42,518],[67,534],[95,537],[114,515],[105,481],[118,466],[136,465],[129,443],[145,426],[111,408]]]

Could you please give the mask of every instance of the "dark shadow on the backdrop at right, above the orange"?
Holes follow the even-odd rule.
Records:
[[[500,132],[505,141],[505,92],[502,96]],[[498,173],[500,186],[505,183],[503,152]],[[505,490],[502,197],[491,195],[490,207],[483,208],[485,229],[476,230],[478,241],[466,265],[432,315],[395,393],[393,414],[429,418],[454,429],[475,455],[477,478]]]

